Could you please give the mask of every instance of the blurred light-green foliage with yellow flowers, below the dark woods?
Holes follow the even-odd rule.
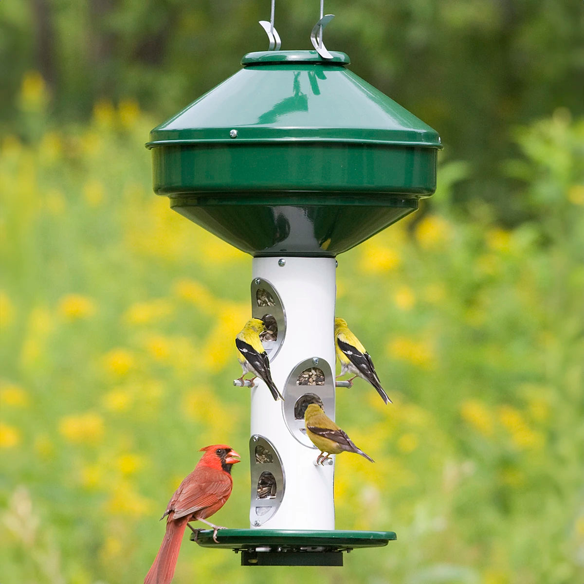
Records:
[[[250,260],[151,193],[155,121],[137,103],[55,130],[47,91],[27,75],[20,136],[1,142],[1,578],[136,582],[196,450],[245,453],[232,339]],[[378,463],[339,459],[336,523],[398,541],[342,570],[244,569],[185,541],[177,584],[582,580],[584,122],[558,110],[513,140],[501,200],[520,224],[478,195],[461,211],[473,167],[444,162],[430,210],[339,258],[337,312],[394,405],[360,381],[337,391],[339,422]],[[220,524],[248,524],[246,466]]]

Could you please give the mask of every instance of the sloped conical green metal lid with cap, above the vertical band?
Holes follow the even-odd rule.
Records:
[[[440,148],[435,130],[345,65],[345,53],[265,51],[151,132],[149,148],[173,143],[319,141]]]

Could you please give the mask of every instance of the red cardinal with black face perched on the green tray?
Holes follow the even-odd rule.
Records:
[[[144,584],[169,584],[175,573],[180,544],[190,521],[198,519],[213,527],[213,539],[217,530],[225,529],[205,521],[217,512],[231,495],[232,465],[239,463],[239,454],[225,444],[201,448],[203,458],[194,471],[180,483],[166,507],[161,519],[166,519],[166,533],[154,564],[148,571]],[[190,529],[196,531],[189,525]]]

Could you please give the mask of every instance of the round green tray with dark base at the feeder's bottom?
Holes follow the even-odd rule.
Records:
[[[342,566],[343,551],[384,547],[397,539],[394,531],[312,531],[289,529],[201,530],[201,547],[241,552],[242,566]]]

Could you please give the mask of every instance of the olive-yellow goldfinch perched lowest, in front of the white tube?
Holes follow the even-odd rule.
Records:
[[[306,427],[306,435],[311,439],[312,444],[321,451],[317,458],[318,464],[324,464],[324,461],[330,458],[331,454],[342,452],[354,452],[364,456],[372,463],[374,462],[373,458],[353,444],[349,436],[322,411],[318,404],[309,404],[306,408],[304,426]],[[325,452],[326,456],[324,456]]]

